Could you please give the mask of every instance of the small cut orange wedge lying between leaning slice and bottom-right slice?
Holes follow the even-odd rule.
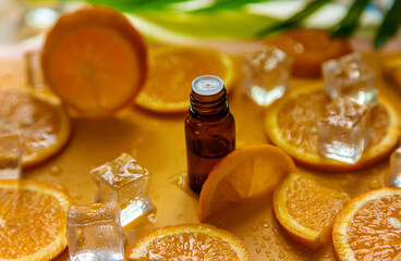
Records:
[[[347,195],[295,173],[274,195],[277,220],[294,240],[311,249],[330,239],[335,217],[347,201]]]

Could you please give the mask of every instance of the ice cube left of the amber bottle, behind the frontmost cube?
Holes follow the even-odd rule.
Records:
[[[118,201],[122,226],[153,209],[148,191],[150,174],[131,156],[123,153],[90,174],[96,185],[95,201]]]

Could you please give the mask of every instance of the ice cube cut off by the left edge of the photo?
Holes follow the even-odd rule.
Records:
[[[0,179],[21,176],[22,148],[17,135],[0,135]]]

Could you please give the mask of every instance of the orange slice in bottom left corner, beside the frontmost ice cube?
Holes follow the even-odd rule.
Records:
[[[51,260],[66,247],[69,196],[46,184],[0,181],[0,260]]]

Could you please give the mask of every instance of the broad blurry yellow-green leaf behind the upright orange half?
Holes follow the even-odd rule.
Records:
[[[138,29],[153,40],[172,40],[163,38],[168,35],[161,35],[163,33],[171,33],[171,35],[182,36],[182,38],[253,39],[256,32],[278,22],[277,18],[240,11],[211,13],[142,12],[134,13],[132,16]],[[160,30],[146,24],[141,27],[141,23],[135,23],[135,17],[151,23]]]

